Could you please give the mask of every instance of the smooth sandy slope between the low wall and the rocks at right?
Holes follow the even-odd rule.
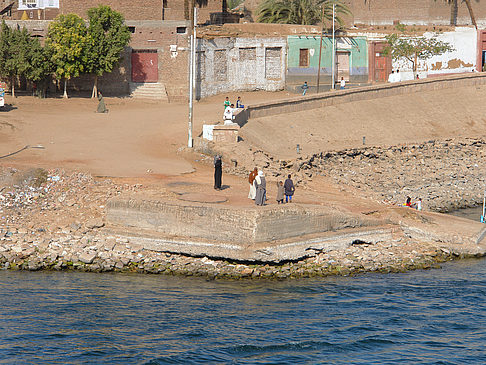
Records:
[[[277,158],[301,153],[486,135],[486,87],[445,89],[252,120],[245,140]]]

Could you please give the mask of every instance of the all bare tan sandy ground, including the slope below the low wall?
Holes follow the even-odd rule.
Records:
[[[372,101],[346,103],[307,112],[252,120],[241,134],[245,146],[256,146],[277,158],[362,146],[418,142],[486,133],[486,87],[416,93]],[[230,93],[245,104],[287,98],[287,92]],[[202,124],[219,121],[223,100],[219,95],[195,104],[194,134]],[[197,154],[180,153],[187,144],[187,104],[160,103],[129,98],[107,98],[110,112],[97,114],[97,101],[85,98],[45,99],[30,96],[11,99],[0,112],[0,155],[26,145],[29,148],[0,159],[8,166],[40,166],[89,172],[128,183],[162,185],[168,190],[181,183],[187,192],[219,195],[232,205],[249,206],[248,183],[223,176],[225,189],[213,190],[213,169]],[[276,204],[275,182],[268,182],[270,204]],[[170,186],[169,186],[169,185]],[[178,187],[180,189],[180,186]],[[375,209],[359,192],[316,177],[296,200],[340,206],[353,211]],[[352,203],[351,203],[352,202]],[[344,204],[345,203],[345,204]]]

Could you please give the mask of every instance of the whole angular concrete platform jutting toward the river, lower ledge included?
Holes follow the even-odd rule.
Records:
[[[396,228],[317,205],[237,208],[123,198],[108,202],[106,219],[107,230],[146,249],[259,262],[390,240]]]

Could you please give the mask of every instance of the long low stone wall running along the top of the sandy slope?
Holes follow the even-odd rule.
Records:
[[[249,119],[252,118],[300,112],[303,110],[317,109],[329,105],[348,103],[352,101],[485,84],[486,73],[471,73],[337,90],[317,95],[300,96],[291,99],[248,105],[244,112],[238,115],[235,121],[240,126],[243,126]]]

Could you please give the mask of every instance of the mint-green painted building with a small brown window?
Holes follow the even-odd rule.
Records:
[[[317,84],[319,68],[319,36],[289,36],[287,38],[287,88],[295,89],[307,81]],[[336,37],[335,80],[341,77],[350,84],[368,83],[368,43],[366,37]],[[331,85],[332,36],[322,38],[320,85]]]

